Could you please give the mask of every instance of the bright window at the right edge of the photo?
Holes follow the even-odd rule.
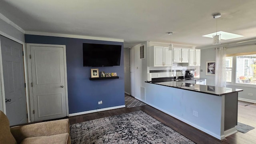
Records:
[[[236,56],[236,83],[256,85],[256,54]]]

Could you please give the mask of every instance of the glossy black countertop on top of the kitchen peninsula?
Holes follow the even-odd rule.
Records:
[[[203,80],[205,78],[194,78],[193,80]],[[190,90],[194,92],[201,92],[205,94],[212,94],[216,96],[222,96],[225,94],[230,94],[234,92],[241,92],[242,89],[236,89],[236,88],[224,88],[224,87],[217,87],[217,86],[208,86],[208,85],[200,85],[200,84],[190,84],[189,80],[185,81],[174,81],[172,78],[169,80],[154,80],[154,81],[146,81],[150,84],[158,84],[162,86],[169,86],[172,88],[180,88],[184,90]]]

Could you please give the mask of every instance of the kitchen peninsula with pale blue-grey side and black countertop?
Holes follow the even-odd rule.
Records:
[[[238,92],[182,81],[146,81],[145,103],[219,140],[236,133]]]

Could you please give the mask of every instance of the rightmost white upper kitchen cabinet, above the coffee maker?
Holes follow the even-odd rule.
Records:
[[[189,49],[188,66],[200,66],[200,49]]]

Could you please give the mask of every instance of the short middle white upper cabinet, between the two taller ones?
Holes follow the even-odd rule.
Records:
[[[173,48],[173,62],[188,63],[188,48]]]

